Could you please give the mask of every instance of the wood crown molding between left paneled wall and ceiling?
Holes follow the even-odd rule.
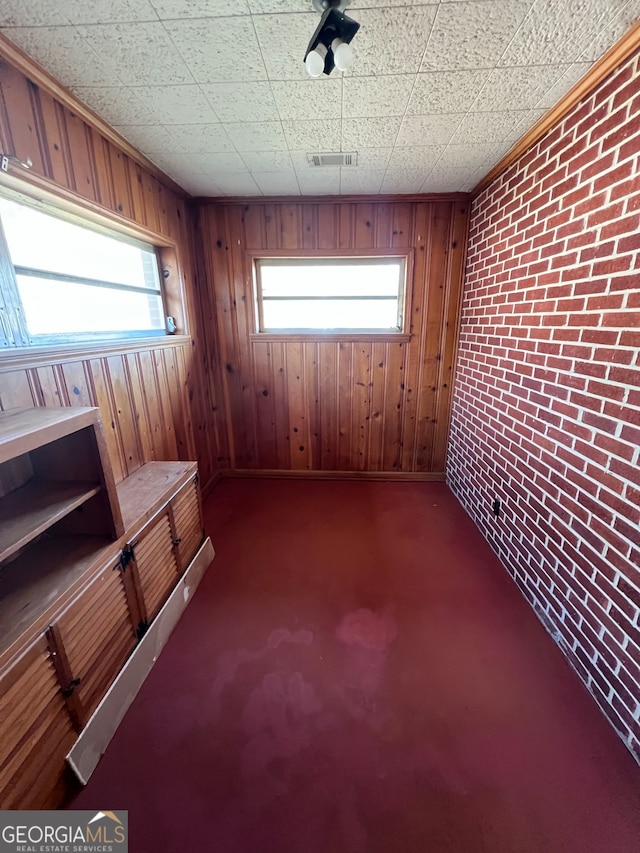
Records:
[[[14,68],[22,72],[25,77],[28,77],[36,86],[39,86],[43,91],[47,92],[57,101],[60,101],[65,107],[68,107],[72,112],[79,116],[87,124],[91,125],[102,136],[116,145],[123,151],[127,157],[130,157],[147,172],[150,172],[154,177],[158,178],[172,192],[182,198],[191,198],[189,193],[177,184],[172,178],[166,175],[162,169],[158,168],[155,163],[147,159],[145,155],[139,151],[135,145],[121,136],[108,124],[103,118],[95,113],[86,104],[76,97],[66,86],[58,82],[55,77],[52,77],[35,59],[32,59],[28,54],[14,44],[4,33],[0,32],[0,56],[4,57],[7,62],[10,62]]]

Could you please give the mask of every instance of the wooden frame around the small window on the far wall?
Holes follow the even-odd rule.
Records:
[[[411,291],[413,282],[413,250],[403,249],[295,249],[283,250],[254,250],[246,253],[247,266],[251,280],[252,341],[397,341],[406,342],[411,338],[409,331],[411,320]],[[400,284],[398,298],[398,314],[401,327],[394,329],[262,329],[262,299],[259,281],[259,262],[289,261],[292,264],[300,261],[335,261],[344,259],[350,262],[370,259],[398,259],[404,265],[404,280]],[[357,297],[356,297],[357,298]]]

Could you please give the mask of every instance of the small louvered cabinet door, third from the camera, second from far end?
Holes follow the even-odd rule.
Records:
[[[147,622],[157,615],[178,582],[179,570],[169,513],[164,512],[133,543]]]

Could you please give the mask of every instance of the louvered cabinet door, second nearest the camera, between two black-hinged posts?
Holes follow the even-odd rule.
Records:
[[[110,563],[56,623],[83,723],[136,645],[120,563]]]

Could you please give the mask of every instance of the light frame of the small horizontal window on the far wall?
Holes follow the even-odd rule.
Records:
[[[394,339],[401,340],[407,339],[409,330],[409,318],[410,318],[410,309],[409,309],[409,298],[411,291],[411,281],[413,277],[413,253],[407,251],[389,251],[389,250],[374,250],[368,249],[365,251],[358,252],[349,252],[346,250],[337,250],[337,251],[313,251],[313,252],[303,252],[303,251],[295,251],[295,252],[255,252],[249,255],[249,262],[251,264],[252,270],[252,278],[253,278],[253,309],[255,313],[254,318],[254,330],[256,339],[264,339],[264,338],[308,338],[308,339],[328,339],[328,338],[371,338],[371,339]],[[301,268],[305,266],[305,264],[322,264],[322,263],[335,263],[336,261],[344,261],[345,264],[358,264],[359,262],[371,263],[379,262],[384,263],[385,261],[399,261],[401,264],[401,274],[400,281],[398,285],[398,297],[397,297],[397,307],[398,307],[398,327],[394,328],[386,328],[386,329],[377,329],[377,328],[364,328],[364,329],[352,329],[348,327],[336,327],[336,328],[265,328],[263,322],[263,297],[262,297],[262,288],[261,288],[261,280],[260,280],[260,266],[262,263],[273,263],[273,264],[283,264],[285,266],[296,266],[299,265]],[[316,298],[316,297],[314,297]],[[321,299],[322,297],[317,297]],[[327,299],[335,299],[336,297],[326,297]],[[346,297],[345,297],[346,298]],[[361,296],[361,297],[351,297],[354,300],[363,299],[366,300],[369,297]],[[292,300],[294,301],[294,300]]]

